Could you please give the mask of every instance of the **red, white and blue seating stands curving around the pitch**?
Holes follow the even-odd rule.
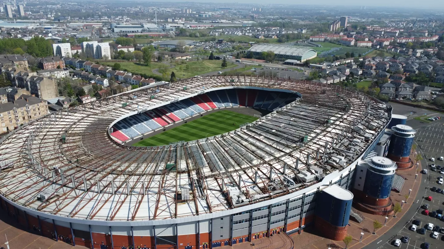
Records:
[[[115,131],[111,133],[111,136],[126,141],[206,110],[232,106],[273,110],[288,105],[296,99],[296,95],[286,92],[270,92],[259,89],[220,89],[127,117],[115,124]]]

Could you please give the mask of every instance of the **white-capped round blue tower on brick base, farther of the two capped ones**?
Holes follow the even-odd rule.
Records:
[[[398,169],[409,168],[412,166],[410,151],[416,130],[405,124],[396,124],[392,131],[387,157],[396,162]]]

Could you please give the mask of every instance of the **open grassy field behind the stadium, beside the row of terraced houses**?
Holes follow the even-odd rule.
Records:
[[[184,62],[184,63],[182,63]],[[108,66],[113,66],[115,62],[107,62]],[[226,68],[235,67],[232,62],[227,62]],[[173,62],[174,68],[170,68],[165,63],[151,62],[151,66],[139,65],[138,62],[119,62],[122,70],[128,70],[136,74],[154,75],[153,69],[159,68],[159,73],[165,73],[170,77],[172,71],[176,74],[176,78],[190,78],[199,74],[205,74],[223,69],[221,67],[222,60],[198,60],[198,61],[176,61]]]

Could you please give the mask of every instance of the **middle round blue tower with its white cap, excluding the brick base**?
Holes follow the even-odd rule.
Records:
[[[395,170],[396,164],[392,160],[382,156],[373,157],[365,174],[365,195],[377,199],[389,198]]]

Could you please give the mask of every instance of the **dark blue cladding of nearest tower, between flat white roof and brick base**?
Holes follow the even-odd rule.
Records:
[[[349,224],[352,199],[341,200],[331,196],[324,191],[317,198],[316,215],[323,218],[333,226],[347,226]]]

